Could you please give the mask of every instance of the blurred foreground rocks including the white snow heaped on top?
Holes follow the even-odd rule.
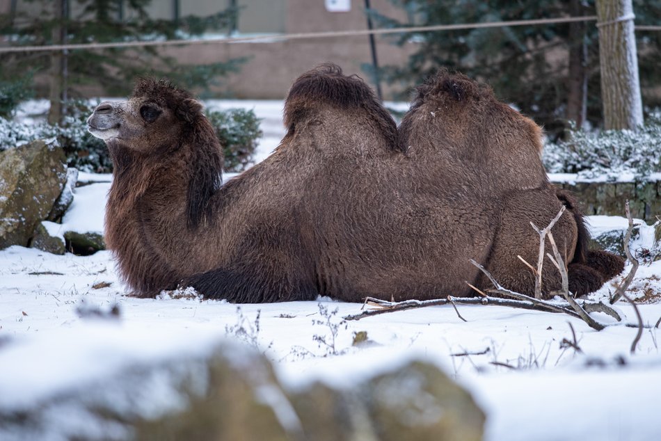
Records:
[[[483,412],[434,364],[371,370],[295,386],[211,328],[88,319],[0,348],[0,440],[481,439]]]

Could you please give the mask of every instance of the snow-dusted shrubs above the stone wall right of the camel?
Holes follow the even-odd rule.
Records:
[[[622,175],[644,179],[661,172],[661,109],[648,115],[637,131],[571,130],[566,141],[547,143],[542,160],[550,173],[616,180]]]

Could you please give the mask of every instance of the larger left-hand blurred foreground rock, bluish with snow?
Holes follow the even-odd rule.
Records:
[[[98,345],[111,363],[126,356],[103,340]],[[296,439],[276,415],[274,407],[287,399],[262,355],[230,343],[210,352],[134,362],[73,383],[33,407],[0,407],[0,439]]]

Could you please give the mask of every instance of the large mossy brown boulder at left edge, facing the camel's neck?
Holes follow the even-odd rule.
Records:
[[[0,249],[27,246],[66,180],[56,141],[33,141],[0,153]]]

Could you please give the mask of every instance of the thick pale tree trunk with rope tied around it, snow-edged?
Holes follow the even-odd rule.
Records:
[[[597,0],[605,129],[643,124],[631,0]]]

